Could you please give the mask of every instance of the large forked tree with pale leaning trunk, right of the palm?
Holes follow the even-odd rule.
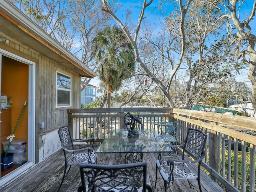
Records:
[[[143,70],[139,78],[146,75],[152,84],[145,87],[160,89],[170,107],[182,103],[191,108],[202,94],[201,86],[234,78],[241,67],[233,59],[232,49],[225,48],[230,44],[220,38],[224,24],[219,18],[220,0],[172,0],[154,6],[153,0],[144,0],[133,31],[113,12],[114,2],[102,2],[103,10],[116,20],[134,47],[136,62]],[[159,20],[146,20],[153,10],[162,13]]]

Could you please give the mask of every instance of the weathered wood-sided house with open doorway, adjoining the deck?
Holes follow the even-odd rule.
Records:
[[[68,125],[68,108],[80,108],[81,76],[96,73],[0,0],[0,93],[12,101],[0,113],[1,153],[27,102],[14,137],[26,140],[26,162],[7,175],[1,171],[0,188],[61,148],[58,128]]]

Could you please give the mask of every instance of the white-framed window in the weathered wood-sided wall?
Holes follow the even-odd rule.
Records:
[[[70,106],[71,104],[71,77],[57,72],[57,107]]]

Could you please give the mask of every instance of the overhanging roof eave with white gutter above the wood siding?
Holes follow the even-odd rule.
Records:
[[[76,56],[6,0],[0,0],[0,30],[80,76],[89,78],[97,76]]]

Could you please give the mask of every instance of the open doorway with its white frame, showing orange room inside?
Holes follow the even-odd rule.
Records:
[[[35,64],[0,49],[0,67],[0,150],[3,157],[6,150],[12,154],[12,163],[9,162],[11,158],[1,158],[2,180],[12,179],[34,164]],[[6,99],[11,101],[11,105],[10,102],[4,105],[7,104]],[[14,138],[8,146],[10,139],[7,138],[12,135]]]

